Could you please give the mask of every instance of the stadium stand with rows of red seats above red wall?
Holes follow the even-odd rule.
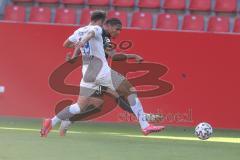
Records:
[[[0,19],[86,25],[91,10],[100,7],[108,17],[120,18],[124,27],[239,32],[239,4],[240,0],[0,0]]]

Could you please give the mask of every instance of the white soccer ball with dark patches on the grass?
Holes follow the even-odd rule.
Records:
[[[199,123],[195,128],[195,135],[201,140],[208,139],[212,134],[212,126],[206,122]]]

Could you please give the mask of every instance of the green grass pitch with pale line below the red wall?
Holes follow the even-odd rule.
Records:
[[[137,125],[74,124],[39,137],[40,120],[0,118],[0,160],[238,160],[240,131],[214,130],[207,141],[193,128],[167,127],[143,136]]]

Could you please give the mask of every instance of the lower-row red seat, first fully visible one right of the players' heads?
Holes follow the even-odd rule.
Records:
[[[144,12],[134,12],[131,27],[137,27],[142,29],[152,28],[152,14]]]

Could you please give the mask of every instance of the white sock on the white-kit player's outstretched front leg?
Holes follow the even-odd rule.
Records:
[[[130,98],[130,96],[129,96],[129,98]],[[142,108],[142,104],[141,104],[140,100],[136,97],[135,101],[136,102],[133,106],[131,106],[131,109],[132,109],[133,113],[135,114],[135,116],[137,117],[141,128],[144,129],[149,126],[149,123],[147,122],[147,120],[145,118],[145,114],[143,112],[143,108]]]

